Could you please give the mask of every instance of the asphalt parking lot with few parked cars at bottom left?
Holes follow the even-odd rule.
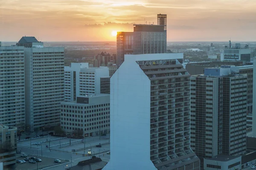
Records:
[[[28,157],[30,158],[30,157],[34,157],[34,156],[28,155]],[[42,161],[41,162],[36,162],[35,164],[29,163],[29,162],[26,162],[26,163],[23,163],[23,164],[17,164],[16,170],[36,170],[36,169],[41,169],[41,168],[44,168],[44,167],[49,167],[49,166],[58,164],[58,163],[54,162],[54,158],[45,158],[45,157],[42,157],[42,156],[35,156],[35,157],[41,159]],[[17,160],[21,160],[21,159],[23,160],[25,158],[20,157],[20,156],[17,157]],[[55,159],[58,159],[58,158],[55,158]],[[61,163],[64,163],[64,162],[68,162],[68,161],[67,160],[61,160]]]

